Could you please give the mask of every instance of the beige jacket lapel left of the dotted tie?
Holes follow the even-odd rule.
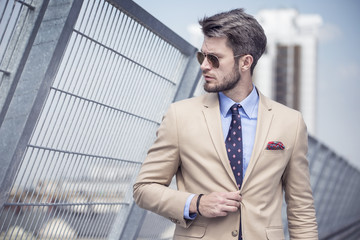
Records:
[[[217,93],[211,93],[206,95],[204,101],[203,113],[215,150],[222,164],[224,165],[226,172],[233,181],[234,186],[237,186],[226,153],[224,136],[222,132],[221,118],[220,118],[219,98]]]

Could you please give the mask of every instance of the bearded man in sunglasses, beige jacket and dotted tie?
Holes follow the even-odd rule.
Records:
[[[134,185],[145,209],[177,224],[174,239],[318,239],[306,126],[252,83],[262,27],[242,9],[205,17],[200,97],[173,103]],[[177,188],[168,188],[176,175]]]

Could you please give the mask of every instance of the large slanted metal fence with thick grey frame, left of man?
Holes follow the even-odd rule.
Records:
[[[1,159],[1,238],[119,239],[162,115],[194,91],[196,49],[132,1],[41,4],[0,130],[15,145]]]

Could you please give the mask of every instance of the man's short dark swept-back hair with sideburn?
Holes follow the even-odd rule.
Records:
[[[211,17],[205,16],[199,20],[199,24],[206,37],[226,37],[234,55],[250,54],[254,59],[251,66],[253,73],[266,48],[264,29],[253,16],[238,8]]]

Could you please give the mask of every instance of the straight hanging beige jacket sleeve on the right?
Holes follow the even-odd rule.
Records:
[[[299,113],[294,148],[283,175],[291,239],[318,239],[307,150],[307,130]]]

